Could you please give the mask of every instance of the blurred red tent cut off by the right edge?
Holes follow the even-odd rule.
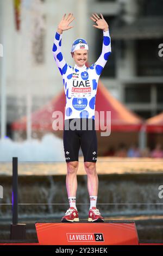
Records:
[[[153,133],[163,132],[163,112],[151,117],[146,121],[146,131]]]

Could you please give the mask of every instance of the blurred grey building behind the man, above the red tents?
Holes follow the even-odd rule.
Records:
[[[102,33],[92,27],[89,16],[102,13],[112,40],[112,53],[101,76],[105,87],[142,118],[162,111],[163,62],[158,54],[163,42],[162,0],[22,0],[20,29],[16,28],[15,2],[1,1],[0,8],[0,23],[5,27],[1,39],[3,33],[9,137],[13,138],[13,121],[39,109],[62,90],[52,45],[64,13],[73,13],[76,18],[74,28],[62,39],[66,61],[73,65],[71,44],[79,36],[89,43],[90,64],[96,61]],[[2,61],[0,64],[2,72]]]

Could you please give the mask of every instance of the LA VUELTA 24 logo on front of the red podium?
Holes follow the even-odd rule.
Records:
[[[68,242],[104,242],[102,233],[67,233]]]

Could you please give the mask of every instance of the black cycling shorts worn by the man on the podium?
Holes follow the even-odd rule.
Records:
[[[97,161],[97,135],[94,119],[75,118],[65,120],[64,151],[66,162],[78,161],[80,147],[84,162]]]

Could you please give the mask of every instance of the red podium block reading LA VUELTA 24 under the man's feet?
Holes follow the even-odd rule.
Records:
[[[139,245],[135,222],[36,223],[40,245]]]

